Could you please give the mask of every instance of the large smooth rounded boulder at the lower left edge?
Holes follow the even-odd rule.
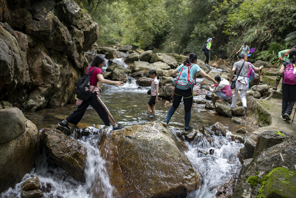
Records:
[[[0,120],[0,192],[2,192],[20,182],[35,165],[39,138],[37,127],[16,107],[0,109]]]

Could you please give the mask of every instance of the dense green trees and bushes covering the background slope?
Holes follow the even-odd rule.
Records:
[[[77,1],[99,23],[102,44],[204,56],[202,46],[215,36],[211,59],[232,59],[248,42],[256,48],[253,61],[276,61],[280,50],[296,45],[296,3],[291,0]]]

